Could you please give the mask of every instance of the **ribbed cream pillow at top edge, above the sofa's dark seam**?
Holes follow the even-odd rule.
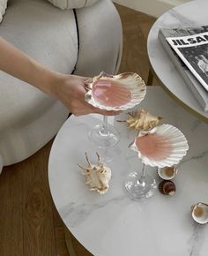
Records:
[[[0,0],[1,1],[1,0]],[[98,2],[99,0],[48,0],[51,4],[56,7],[66,10],[66,9],[77,9],[86,6],[90,6]]]

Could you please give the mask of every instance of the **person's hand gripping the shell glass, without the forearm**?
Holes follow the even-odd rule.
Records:
[[[85,80],[89,78],[62,75],[56,81],[56,87],[53,95],[63,102],[75,116],[81,116],[89,113],[98,113],[105,116],[114,116],[120,111],[107,111],[94,108],[89,103],[85,102]]]

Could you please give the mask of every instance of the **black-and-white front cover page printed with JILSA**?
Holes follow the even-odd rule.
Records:
[[[175,28],[166,40],[208,92],[208,26]]]

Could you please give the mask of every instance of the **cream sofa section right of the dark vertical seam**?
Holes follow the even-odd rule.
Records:
[[[79,54],[76,74],[116,73],[123,51],[122,23],[114,4],[101,0],[77,10]]]

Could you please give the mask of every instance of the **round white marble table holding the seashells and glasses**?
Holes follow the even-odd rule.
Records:
[[[114,158],[110,188],[104,195],[88,190],[78,163],[97,160],[87,133],[101,117],[70,117],[58,132],[48,163],[50,191],[63,222],[78,241],[96,256],[206,256],[208,225],[201,226],[190,215],[190,206],[208,203],[208,124],[181,109],[160,87],[148,87],[141,104],[165,124],[180,128],[189,141],[189,152],[175,177],[176,193],[164,196],[156,190],[147,200],[130,200],[123,188],[125,177],[142,164],[128,145],[134,138],[125,124],[114,122],[121,141],[107,151]],[[115,117],[123,120],[126,115]],[[156,178],[156,169],[149,168]]]

